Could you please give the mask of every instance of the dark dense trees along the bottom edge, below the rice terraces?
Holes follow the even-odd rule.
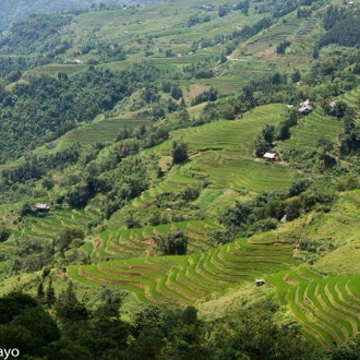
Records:
[[[278,307],[271,301],[209,323],[201,321],[192,305],[184,310],[147,305],[124,322],[119,313],[123,296],[104,288],[101,302],[92,311],[77,300],[72,283],[58,297],[51,279],[46,289],[39,287],[37,300],[9,293],[0,298],[0,346],[19,349],[31,359],[58,360],[337,360],[356,359],[359,349],[357,338],[333,353],[319,351],[301,337],[296,324],[274,323]]]

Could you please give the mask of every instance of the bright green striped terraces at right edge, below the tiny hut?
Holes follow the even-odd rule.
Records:
[[[274,296],[288,305],[302,333],[324,347],[341,344],[360,329],[359,275],[327,276],[300,266],[268,280]]]

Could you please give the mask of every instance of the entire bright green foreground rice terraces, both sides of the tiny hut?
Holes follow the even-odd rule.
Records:
[[[242,281],[265,278],[268,298],[288,307],[313,343],[333,347],[360,329],[360,275],[322,276],[292,257],[291,244],[239,239],[188,256],[147,256],[69,268],[89,286],[109,284],[133,291],[146,303],[191,304],[224,295]],[[265,285],[266,286],[266,285]]]

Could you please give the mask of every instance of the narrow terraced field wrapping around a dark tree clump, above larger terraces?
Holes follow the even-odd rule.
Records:
[[[207,219],[104,231],[96,240],[95,249],[91,251],[91,254],[93,260],[97,262],[106,259],[129,259],[158,254],[159,249],[154,238],[166,236],[175,228],[182,229],[189,237],[189,252],[202,252],[213,248],[206,241],[208,233],[221,227],[216,221]],[[88,244],[85,247],[88,252]]]

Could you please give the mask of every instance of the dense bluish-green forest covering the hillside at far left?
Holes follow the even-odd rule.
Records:
[[[152,63],[134,64],[113,73],[94,67],[69,77],[59,73],[29,77],[1,93],[1,144],[5,157],[16,158],[76,127],[97,113],[112,109],[115,104],[142,86],[160,77]]]

